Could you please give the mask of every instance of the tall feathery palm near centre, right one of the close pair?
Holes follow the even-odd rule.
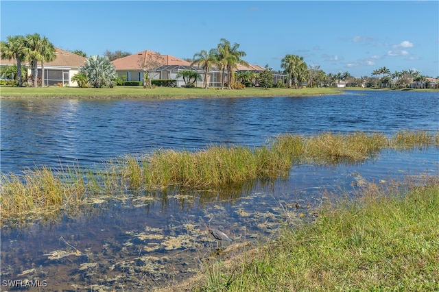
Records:
[[[237,68],[238,64],[243,64],[248,66],[248,62],[241,59],[241,57],[246,56],[246,52],[239,51],[239,44],[236,42],[232,45],[230,45],[230,42],[226,40],[225,38],[222,38],[220,40],[220,43],[218,44],[218,51],[220,51],[221,56],[220,60],[225,60],[222,62],[226,63],[226,69],[227,69],[227,88],[230,89],[233,82],[233,74],[234,69]]]

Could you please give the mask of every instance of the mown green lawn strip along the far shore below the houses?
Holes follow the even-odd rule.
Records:
[[[51,97],[51,98],[193,98],[193,97],[274,97],[313,96],[339,94],[335,88],[244,88],[241,90],[220,90],[218,88],[169,88],[145,89],[141,86],[117,86],[115,88],[78,87],[0,87],[1,97]]]

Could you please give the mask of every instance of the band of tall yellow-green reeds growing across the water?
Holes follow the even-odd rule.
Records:
[[[221,188],[248,180],[276,179],[294,163],[335,165],[360,162],[381,149],[439,146],[439,133],[398,132],[285,134],[261,147],[212,146],[200,151],[157,150],[143,156],[125,156],[104,169],[82,171],[80,166],[54,171],[47,167],[21,175],[1,173],[1,222],[84,204],[99,196],[154,191],[168,186]]]

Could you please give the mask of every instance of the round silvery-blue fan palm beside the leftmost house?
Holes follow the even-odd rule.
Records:
[[[95,88],[104,85],[114,86],[117,77],[115,65],[104,56],[90,56],[84,66],[80,66],[79,72],[86,75],[88,83]]]

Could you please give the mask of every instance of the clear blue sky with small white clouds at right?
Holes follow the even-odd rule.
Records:
[[[36,32],[87,56],[150,49],[192,58],[226,38],[250,64],[275,70],[294,54],[326,73],[439,75],[439,1],[1,0],[0,9],[1,40]]]

